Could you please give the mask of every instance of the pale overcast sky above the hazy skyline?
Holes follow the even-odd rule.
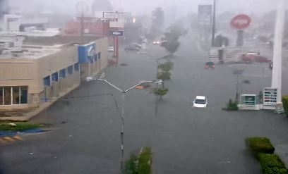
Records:
[[[10,0],[12,6],[22,6],[25,11],[33,9],[61,11],[63,13],[76,13],[76,4],[79,0]],[[93,0],[85,0],[90,4]],[[97,1],[97,0],[94,0]],[[211,4],[212,0],[110,0],[115,10],[131,12],[133,14],[150,14],[157,6],[164,11],[182,13],[197,12],[198,4]],[[217,13],[224,11],[237,11],[246,13],[265,13],[276,8],[277,0],[216,0]]]

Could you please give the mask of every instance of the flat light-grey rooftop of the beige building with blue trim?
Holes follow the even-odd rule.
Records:
[[[24,40],[23,40],[24,39]],[[21,37],[0,36],[0,59],[36,59],[61,51],[63,46],[88,44],[100,37]]]

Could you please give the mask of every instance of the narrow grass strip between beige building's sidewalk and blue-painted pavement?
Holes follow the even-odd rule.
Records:
[[[1,123],[0,130],[23,131],[40,128],[40,124],[30,123]]]

